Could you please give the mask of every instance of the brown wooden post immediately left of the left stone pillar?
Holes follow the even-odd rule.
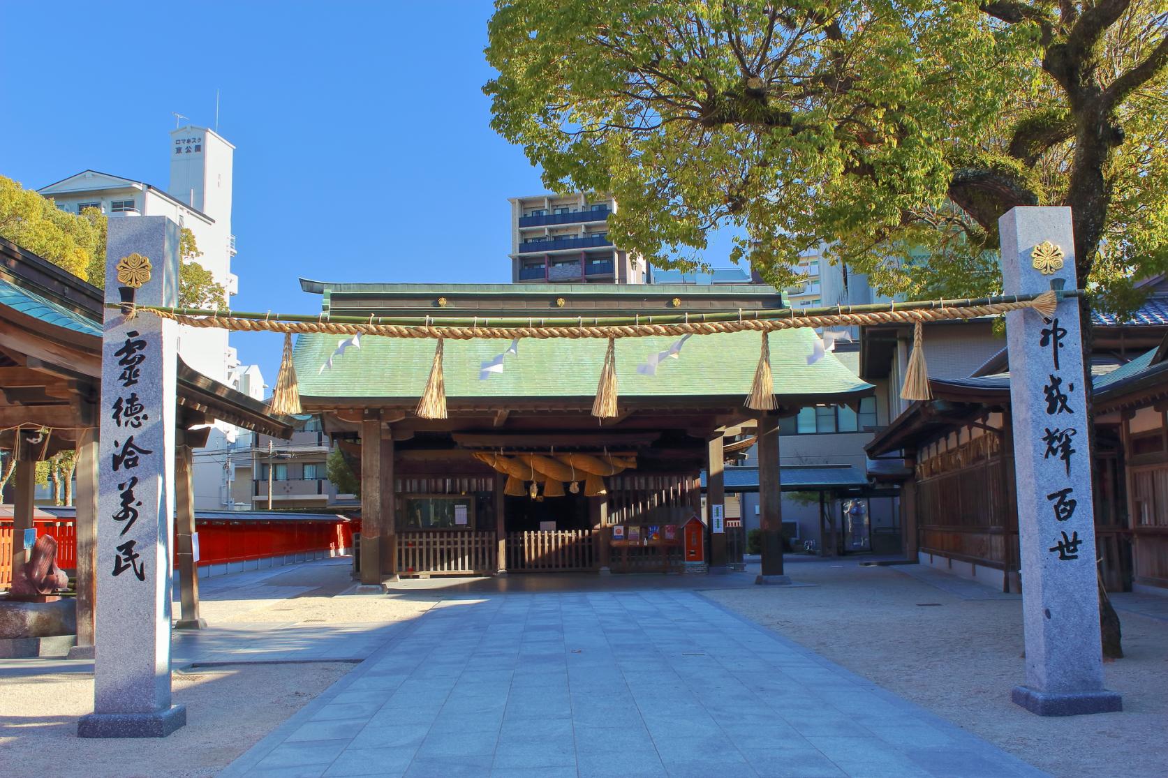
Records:
[[[89,417],[96,424],[92,415]],[[77,543],[77,645],[69,659],[92,659],[95,646],[93,606],[97,602],[97,428],[82,430],[77,438],[77,489],[75,526]]]

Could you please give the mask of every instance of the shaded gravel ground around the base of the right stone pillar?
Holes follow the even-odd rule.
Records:
[[[1040,717],[1009,700],[1026,678],[1021,598],[964,599],[850,561],[787,572],[816,585],[702,593],[1054,776],[1168,776],[1168,623],[1120,613],[1127,658],[1105,672],[1124,713]]]

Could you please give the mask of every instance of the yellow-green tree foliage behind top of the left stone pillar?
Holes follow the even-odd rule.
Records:
[[[86,208],[81,215],[65,213],[51,200],[0,175],[0,236],[99,289],[105,286],[106,223],[97,208]],[[186,227],[180,253],[179,305],[221,307],[227,290],[196,262],[202,251]]]

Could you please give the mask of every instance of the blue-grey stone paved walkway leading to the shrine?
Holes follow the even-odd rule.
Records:
[[[443,600],[224,776],[1043,773],[689,591]]]

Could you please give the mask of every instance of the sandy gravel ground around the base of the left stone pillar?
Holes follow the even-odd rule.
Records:
[[[353,667],[319,662],[175,673],[174,702],[187,706],[187,725],[169,737],[128,741],[77,737],[77,718],[93,710],[92,675],[5,678],[0,776],[214,776]]]

